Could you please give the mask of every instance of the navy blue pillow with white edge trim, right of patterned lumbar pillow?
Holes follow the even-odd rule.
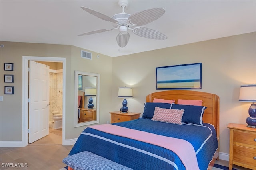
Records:
[[[171,109],[183,109],[185,110],[182,117],[182,123],[192,123],[196,125],[203,125],[203,114],[205,106],[194,106],[194,105],[181,105],[172,104]]]

